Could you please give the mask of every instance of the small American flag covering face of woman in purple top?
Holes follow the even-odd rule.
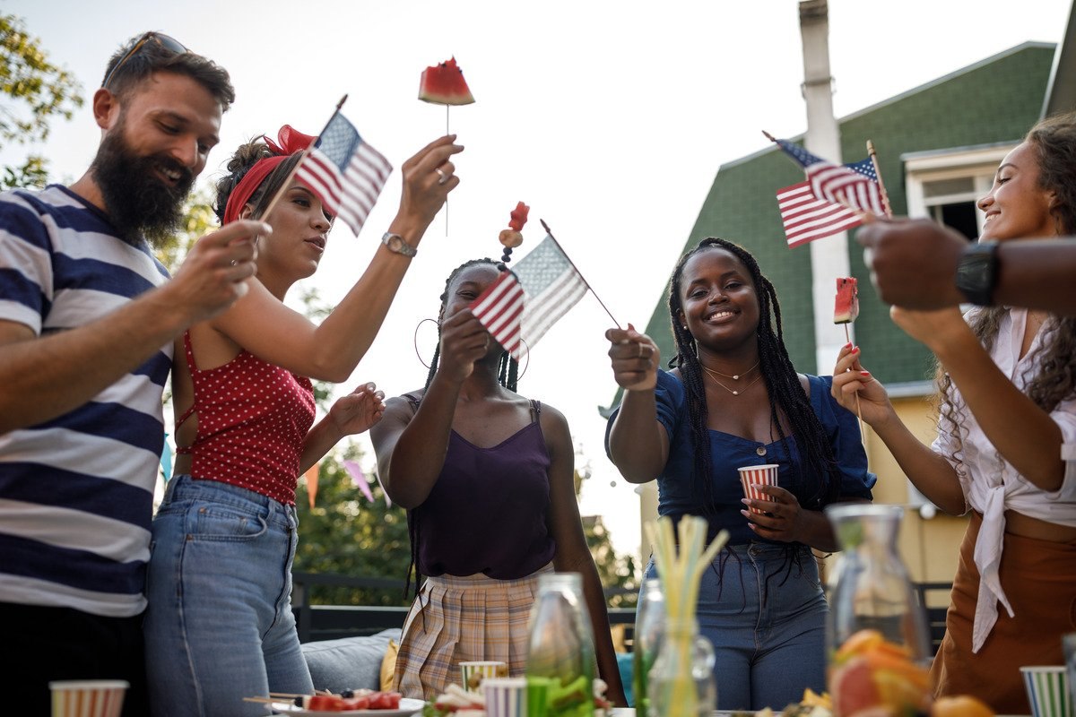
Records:
[[[512,271],[504,271],[471,302],[475,317],[516,361],[583,295],[586,282],[547,235]]]

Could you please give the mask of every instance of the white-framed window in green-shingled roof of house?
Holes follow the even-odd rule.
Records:
[[[975,202],[990,191],[997,166],[1017,144],[903,155],[908,216],[930,217],[975,240],[985,218]]]

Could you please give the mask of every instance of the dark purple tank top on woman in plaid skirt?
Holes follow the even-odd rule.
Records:
[[[452,431],[441,475],[417,520],[419,572],[511,580],[553,559],[549,515],[549,453],[535,420],[492,448]]]

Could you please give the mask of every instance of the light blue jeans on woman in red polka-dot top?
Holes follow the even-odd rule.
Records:
[[[145,613],[155,717],[264,717],[244,697],[313,691],[292,615],[295,506],[173,477],[153,520]]]

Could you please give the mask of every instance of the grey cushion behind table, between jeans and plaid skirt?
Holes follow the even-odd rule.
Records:
[[[342,692],[381,686],[381,661],[388,640],[399,641],[399,628],[388,628],[367,637],[344,637],[303,643],[302,656],[310,666],[314,689]]]

